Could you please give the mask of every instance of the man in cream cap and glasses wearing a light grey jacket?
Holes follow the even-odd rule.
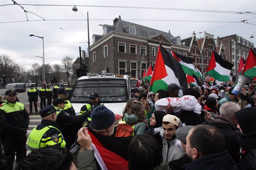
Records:
[[[181,158],[186,152],[181,146],[180,140],[175,136],[175,131],[180,126],[180,119],[174,115],[165,115],[162,122],[163,159],[170,162]]]

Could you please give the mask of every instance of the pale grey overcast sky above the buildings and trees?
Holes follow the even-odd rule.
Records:
[[[26,13],[12,0],[0,0],[0,54],[8,54],[18,64],[30,69],[34,63],[42,63],[42,39],[29,37],[34,34],[44,37],[45,64],[61,64],[61,59],[69,55],[75,59],[79,56],[79,46],[82,50],[88,47],[87,11],[89,12],[90,41],[93,34],[103,34],[99,24],[113,24],[115,17],[122,20],[168,32],[181,39],[191,37],[193,31],[196,37],[204,36],[204,31],[214,34],[214,38],[237,34],[254,43],[256,46],[256,0],[15,0],[24,10],[33,12],[45,20],[69,21],[30,21],[42,20],[32,13]],[[73,5],[72,6],[31,6],[37,5]],[[83,6],[81,6],[83,5]],[[85,7],[97,6],[97,7]],[[253,12],[255,14],[210,13],[196,11],[118,8],[98,6],[125,7],[154,7],[154,8],[182,8],[193,10]],[[75,21],[81,19],[81,21]],[[135,21],[135,20],[182,20],[182,21]],[[188,21],[229,21],[247,20],[247,23],[220,22],[188,22]],[[25,21],[3,23],[11,21]],[[229,25],[227,25],[229,24]],[[227,26],[225,26],[227,25]],[[221,27],[224,26],[224,27]],[[217,28],[220,27],[220,28]],[[62,28],[62,29],[61,29]],[[214,29],[216,28],[216,29]],[[203,33],[200,33],[203,32]],[[254,38],[250,38],[254,35]],[[83,42],[83,43],[79,43]]]

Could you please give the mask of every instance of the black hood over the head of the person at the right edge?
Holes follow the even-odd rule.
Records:
[[[256,130],[256,108],[244,108],[235,113],[237,122],[244,134],[251,133]]]

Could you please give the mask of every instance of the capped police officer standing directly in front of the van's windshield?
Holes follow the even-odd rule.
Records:
[[[82,106],[82,108],[79,112],[79,115],[85,114],[86,116],[88,116],[88,121],[91,121],[90,115],[91,115],[91,112],[92,112],[91,107],[93,105],[96,105],[96,106],[102,105],[101,102],[100,102],[100,99],[99,99],[99,95],[96,92],[93,92],[93,93],[90,94],[89,102]]]

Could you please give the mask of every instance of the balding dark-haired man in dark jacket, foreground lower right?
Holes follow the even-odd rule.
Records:
[[[197,125],[186,137],[186,154],[193,160],[186,164],[186,170],[237,170],[229,152],[225,150],[224,136],[214,126]]]

